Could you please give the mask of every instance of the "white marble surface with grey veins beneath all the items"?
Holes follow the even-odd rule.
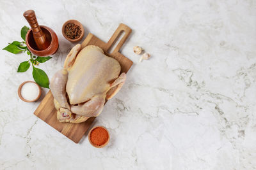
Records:
[[[40,102],[17,96],[33,80],[16,72],[28,57],[0,50],[0,169],[256,169],[256,1],[1,0],[1,48],[20,40],[29,9],[60,40],[40,65],[49,78],[74,46],[61,35],[71,18],[104,41],[129,25],[122,53],[134,65],[94,124],[111,134],[97,149],[33,115]],[[152,58],[139,63],[134,45]]]

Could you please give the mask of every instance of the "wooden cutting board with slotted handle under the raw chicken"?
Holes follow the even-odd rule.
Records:
[[[123,31],[125,34],[119,41],[118,45],[116,45],[112,53],[108,53],[108,50],[110,48],[113,48],[113,45],[120,37]],[[124,44],[125,40],[129,37],[129,34],[131,34],[131,31],[131,28],[127,27],[127,25],[120,24],[114,32],[113,36],[111,36],[111,38],[109,39],[108,43],[104,43],[104,41],[89,33],[82,43],[82,48],[84,48],[87,45],[99,46],[100,48],[102,48],[106,55],[118,60],[121,66],[121,73],[127,73],[127,71],[132,66],[132,61],[118,51]],[[83,138],[84,133],[89,129],[90,125],[92,125],[93,120],[95,119],[95,117],[92,117],[86,120],[86,122],[80,124],[59,122],[57,120],[57,110],[54,108],[51,90],[49,90],[49,92],[46,94],[42,102],[39,104],[38,108],[36,108],[34,114],[36,115],[36,117],[44,120],[44,122],[51,125],[54,129],[64,134],[65,136],[67,136],[67,138],[71,139],[75,143],[78,143],[80,139]]]

